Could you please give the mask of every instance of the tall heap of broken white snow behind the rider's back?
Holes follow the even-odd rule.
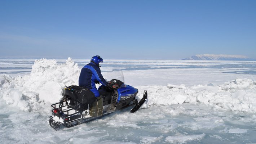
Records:
[[[0,98],[23,111],[42,109],[46,103],[58,102],[65,85],[77,85],[80,69],[71,58],[66,63],[56,60],[35,60],[30,75],[0,75]],[[49,105],[47,105],[49,107]]]

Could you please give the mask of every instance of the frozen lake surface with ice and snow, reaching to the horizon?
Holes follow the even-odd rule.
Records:
[[[88,62],[0,60],[0,143],[256,143],[255,61],[104,60],[146,103],[55,131],[50,104]]]

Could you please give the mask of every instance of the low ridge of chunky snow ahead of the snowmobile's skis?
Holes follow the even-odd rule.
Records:
[[[247,78],[219,86],[208,84],[186,87],[167,84],[165,87],[150,86],[141,89],[148,91],[146,106],[202,103],[215,109],[256,112],[256,81]]]

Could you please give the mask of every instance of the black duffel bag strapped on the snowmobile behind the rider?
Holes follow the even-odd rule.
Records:
[[[96,100],[94,93],[82,86],[68,86],[64,89],[64,95],[72,99],[72,103],[77,101],[82,104],[92,104]]]

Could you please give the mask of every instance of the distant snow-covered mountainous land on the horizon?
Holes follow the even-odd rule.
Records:
[[[256,60],[244,55],[197,54],[182,60]]]

